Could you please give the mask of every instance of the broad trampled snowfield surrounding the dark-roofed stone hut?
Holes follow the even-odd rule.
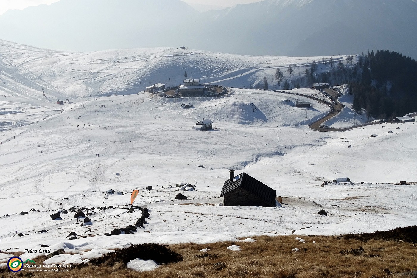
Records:
[[[35,62],[36,56],[20,61]],[[64,79],[50,77],[50,84],[53,80]],[[306,235],[373,232],[416,222],[416,185],[393,184],[417,180],[415,123],[312,131],[307,125],[327,114],[328,106],[262,90],[231,89],[224,97],[198,99],[147,93],[79,96],[64,105],[28,91],[10,93],[5,99],[12,104],[0,104],[13,109],[20,100],[38,107],[28,124],[0,132],[0,216],[10,215],[0,217],[0,250],[5,253],[45,249],[40,247],[44,244],[51,252],[76,253],[51,262],[80,263],[138,243],[239,243],[238,238],[293,233],[311,242]],[[312,108],[291,105],[297,100],[311,102]],[[195,108],[181,109],[188,102]],[[22,121],[21,114],[7,116]],[[214,121],[214,129],[192,129],[202,118]],[[371,134],[378,137],[369,138]],[[218,206],[229,169],[274,188],[276,196],[284,197],[281,206]],[[352,182],[321,186],[339,177]],[[177,191],[177,183],[190,183],[196,190]],[[104,199],[110,189],[124,195]],[[105,236],[141,217],[140,210],[128,213],[134,189],[140,193],[133,204],[147,206],[150,219],[134,234]],[[188,200],[175,200],[178,193]],[[104,206],[114,208],[98,209]],[[70,207],[94,207],[91,222],[81,226],[83,218],[74,219],[74,212],[51,220],[50,215]],[[319,210],[327,216],[317,214]],[[77,239],[68,239],[70,232]],[[7,259],[0,257],[0,264]]]

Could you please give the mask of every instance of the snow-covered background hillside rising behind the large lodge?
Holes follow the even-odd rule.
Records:
[[[137,94],[154,83],[178,86],[185,72],[188,78],[200,78],[200,83],[234,87],[259,83],[266,76],[272,87],[277,84],[276,68],[291,81],[301,76],[306,64],[322,61],[322,57],[240,56],[177,48],[70,53],[2,40],[0,57],[0,95],[43,101]],[[334,60],[346,61],[346,56]],[[291,76],[286,72],[289,64],[294,68]]]

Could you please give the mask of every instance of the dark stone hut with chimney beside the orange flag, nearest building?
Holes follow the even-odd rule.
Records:
[[[275,190],[263,184],[245,172],[230,177],[224,182],[220,197],[224,197],[224,206],[276,207]]]

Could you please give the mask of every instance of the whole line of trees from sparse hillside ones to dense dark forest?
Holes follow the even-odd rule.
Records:
[[[346,63],[334,61],[333,57],[327,61],[323,57],[321,69],[318,67],[313,61],[301,73],[290,64],[286,68],[290,81],[285,78],[285,69],[281,68],[276,68],[274,78],[284,90],[311,88],[314,83],[349,84],[354,110],[358,114],[367,111],[376,119],[392,119],[417,111],[417,62],[410,57],[379,50],[347,56]],[[298,74],[294,75],[295,71]],[[268,89],[266,77],[255,88]]]

